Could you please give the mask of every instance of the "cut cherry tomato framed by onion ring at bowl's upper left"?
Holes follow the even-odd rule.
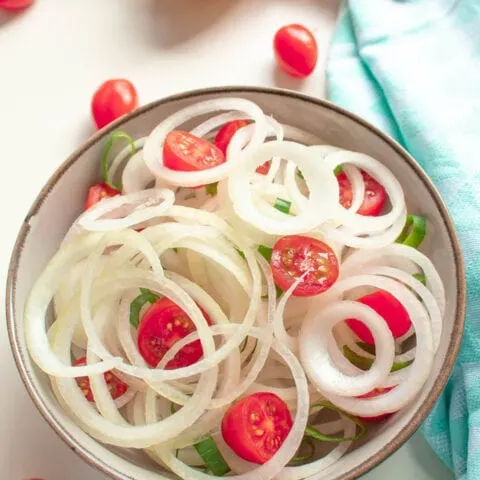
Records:
[[[225,155],[213,143],[188,132],[173,130],[163,145],[163,163],[172,170],[207,170],[225,162]]]

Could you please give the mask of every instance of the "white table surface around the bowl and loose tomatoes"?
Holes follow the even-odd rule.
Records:
[[[261,10],[260,10],[261,7]],[[338,0],[37,0],[0,12],[0,268],[34,197],[92,132],[95,88],[112,77],[142,103],[215,85],[277,85],[324,94],[324,65]],[[283,24],[310,27],[319,64],[304,83],[273,68]],[[4,286],[1,287],[2,304]],[[0,322],[0,475],[5,480],[104,480],[57,438],[24,391]],[[450,480],[417,434],[364,480]]]

